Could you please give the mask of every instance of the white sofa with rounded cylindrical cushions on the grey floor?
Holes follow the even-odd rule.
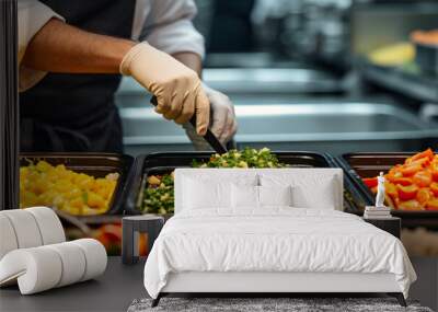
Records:
[[[32,294],[95,278],[106,268],[105,247],[96,240],[66,242],[50,208],[0,211],[0,287],[18,284]]]

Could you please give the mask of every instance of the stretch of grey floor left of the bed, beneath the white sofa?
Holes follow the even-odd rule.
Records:
[[[108,257],[104,275],[32,296],[20,296],[16,287],[0,289],[0,311],[126,311],[136,298],[147,296],[145,262],[127,266],[120,257]]]

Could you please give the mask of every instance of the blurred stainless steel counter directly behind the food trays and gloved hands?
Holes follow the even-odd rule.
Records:
[[[243,77],[241,77],[243,80]],[[250,84],[249,84],[250,86]],[[348,100],[300,100],[290,94],[269,100],[229,93],[235,105],[240,147],[312,150],[339,154],[348,151],[419,149],[438,136],[436,124],[423,123],[394,103]],[[150,95],[125,79],[117,93],[129,153],[191,150],[184,130],[166,122],[148,104]]]

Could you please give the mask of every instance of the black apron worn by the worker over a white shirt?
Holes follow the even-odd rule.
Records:
[[[135,0],[42,0],[68,24],[115,37],[131,35]],[[119,74],[48,73],[20,94],[21,151],[122,152],[114,93]]]

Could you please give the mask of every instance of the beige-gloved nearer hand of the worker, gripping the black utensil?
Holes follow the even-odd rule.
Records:
[[[210,105],[195,71],[148,43],[140,43],[126,54],[120,72],[157,96],[155,112],[166,119],[185,124],[196,114],[196,132],[205,135]]]

